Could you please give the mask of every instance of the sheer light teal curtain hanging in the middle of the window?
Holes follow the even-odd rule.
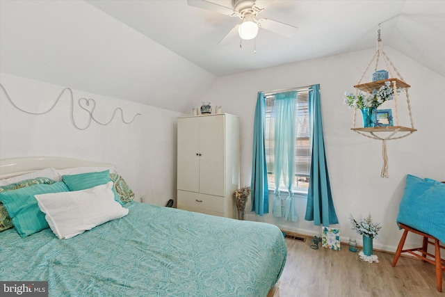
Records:
[[[273,215],[286,220],[298,219],[293,199],[293,180],[295,178],[295,145],[296,145],[296,104],[297,92],[275,94],[275,197]],[[288,197],[283,201],[280,196],[280,182],[283,180]]]

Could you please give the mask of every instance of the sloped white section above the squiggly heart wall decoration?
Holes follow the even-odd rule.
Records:
[[[0,1],[0,72],[172,111],[215,78],[86,1]]]

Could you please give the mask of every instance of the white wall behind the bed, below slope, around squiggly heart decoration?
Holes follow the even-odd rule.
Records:
[[[54,104],[65,86],[0,73],[0,83],[13,102],[26,111],[42,112]],[[176,118],[174,111],[113,97],[74,91],[74,120],[88,124],[88,113],[77,105],[81,97],[96,101],[93,115],[108,122],[115,108],[124,120],[140,116],[129,125],[120,113],[109,125],[92,122],[85,130],[70,120],[71,100],[63,93],[54,109],[44,115],[29,115],[15,109],[0,89],[0,159],[19,156],[67,156],[113,163],[136,193],[136,200],[165,205],[176,198]],[[90,105],[91,106],[91,105]]]

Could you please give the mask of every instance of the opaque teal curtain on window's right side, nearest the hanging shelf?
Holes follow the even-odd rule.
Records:
[[[337,224],[339,220],[335,214],[327,173],[319,85],[309,88],[309,129],[312,161],[305,220],[313,220],[314,225],[329,227],[329,224]]]

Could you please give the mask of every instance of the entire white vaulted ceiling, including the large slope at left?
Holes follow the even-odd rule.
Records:
[[[445,1],[261,2],[298,32],[260,29],[240,49],[236,35],[217,45],[240,19],[187,0],[1,0],[0,72],[185,112],[218,77],[371,49],[380,28],[445,77]]]

